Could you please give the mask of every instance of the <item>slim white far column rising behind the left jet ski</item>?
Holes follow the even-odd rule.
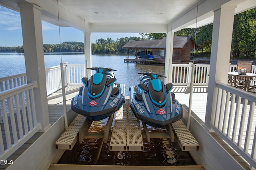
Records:
[[[91,32],[84,32],[85,76],[88,78],[92,75],[92,70],[86,69],[92,67],[92,47],[90,36]]]

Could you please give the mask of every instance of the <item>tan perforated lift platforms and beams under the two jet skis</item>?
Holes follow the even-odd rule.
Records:
[[[175,132],[177,137],[176,139],[178,139],[180,148],[183,151],[199,149],[198,142],[181,120],[172,123],[172,125],[166,126],[168,133],[149,133],[145,123],[142,123],[144,128],[142,131],[142,127],[140,127],[140,120],[132,114],[129,102],[130,100],[127,96],[125,104],[116,112],[113,131],[111,132],[114,114],[109,117],[104,134],[101,135],[104,138],[104,143],[107,143],[108,138],[111,138],[110,151],[143,151],[144,147],[142,137],[145,135],[148,142],[150,142],[150,138],[166,137],[170,138],[171,141],[174,142],[173,131]],[[90,137],[90,133],[87,133],[87,131],[91,124],[92,121],[86,119],[82,115],[78,115],[68,129],[66,129],[66,131],[60,136],[58,141],[56,141],[56,148],[70,150],[78,140],[78,135],[80,143],[83,141],[84,137]]]

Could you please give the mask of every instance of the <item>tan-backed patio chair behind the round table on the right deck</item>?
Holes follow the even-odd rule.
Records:
[[[237,61],[235,72],[238,72],[238,68],[246,68],[246,71],[248,73],[252,72],[252,63],[253,61]],[[236,82],[234,82],[234,79],[232,81],[235,87],[243,89],[245,80],[246,80],[245,77],[237,76]]]

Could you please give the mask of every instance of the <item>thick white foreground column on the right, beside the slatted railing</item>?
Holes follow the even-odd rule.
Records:
[[[211,123],[215,115],[217,100],[215,82],[227,83],[228,81],[235,8],[236,6],[221,6],[221,8],[214,11],[210,75],[204,123],[208,130],[211,129]]]

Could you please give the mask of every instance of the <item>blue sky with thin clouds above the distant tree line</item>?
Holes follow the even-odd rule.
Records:
[[[0,47],[18,47],[23,45],[20,13],[0,6]],[[73,27],[59,27],[42,21],[43,44],[59,44],[65,41],[84,42],[84,33]],[[91,42],[97,39],[121,37],[141,37],[139,33],[92,33]]]

